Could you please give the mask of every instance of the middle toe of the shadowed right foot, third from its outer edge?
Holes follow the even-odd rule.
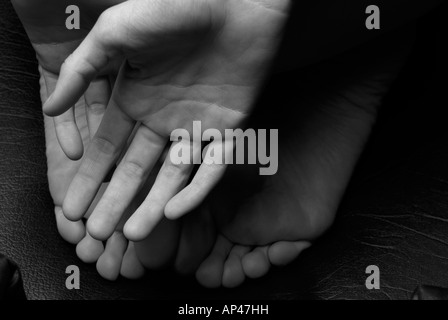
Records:
[[[224,264],[224,273],[222,276],[222,285],[224,287],[235,288],[244,282],[246,275],[244,274],[241,259],[249,251],[250,247],[248,246],[234,246],[232,248]]]

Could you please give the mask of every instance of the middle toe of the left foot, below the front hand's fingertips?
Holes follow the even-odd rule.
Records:
[[[121,232],[114,232],[107,240],[104,253],[96,263],[98,273],[107,280],[116,280],[127,248],[127,240]]]

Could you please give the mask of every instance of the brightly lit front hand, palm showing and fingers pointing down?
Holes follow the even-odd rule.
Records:
[[[101,15],[65,61],[55,92],[44,106],[48,115],[65,112],[111,61],[125,61],[103,121],[64,200],[69,219],[85,214],[137,121],[136,135],[88,221],[89,233],[97,239],[113,232],[173,130],[191,133],[194,120],[201,121],[204,130],[221,132],[242,125],[287,18],[289,1],[269,2],[133,0]],[[171,148],[179,143],[185,141],[174,142]],[[198,143],[187,142],[196,152]],[[209,146],[226,143],[213,141]],[[225,165],[203,163],[184,188],[192,169],[193,164],[175,165],[166,157],[146,200],[125,225],[126,237],[141,240],[164,212],[175,218],[196,207]]]

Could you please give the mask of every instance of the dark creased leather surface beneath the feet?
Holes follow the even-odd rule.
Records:
[[[448,287],[448,54],[436,32],[444,12],[446,6],[420,22],[416,49],[386,99],[331,230],[290,266],[211,293],[169,272],[106,281],[59,237],[46,181],[37,64],[9,1],[0,0],[0,252],[20,266],[28,298],[410,299],[418,285]],[[72,264],[81,269],[80,290],[65,287]],[[369,265],[380,268],[379,290],[365,287]]]

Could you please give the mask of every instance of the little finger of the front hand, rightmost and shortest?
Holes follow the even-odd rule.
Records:
[[[191,183],[174,196],[165,207],[168,219],[177,219],[196,208],[215,187],[227,168],[223,150],[232,150],[233,141],[214,141],[207,147],[204,161]]]

